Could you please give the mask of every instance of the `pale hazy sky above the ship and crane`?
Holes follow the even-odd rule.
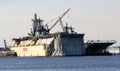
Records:
[[[61,16],[84,40],[116,40],[120,45],[120,0],[0,0],[0,46],[13,44],[12,38],[27,36],[34,13],[44,24]],[[48,24],[52,26],[54,22]],[[61,31],[58,23],[51,32]]]

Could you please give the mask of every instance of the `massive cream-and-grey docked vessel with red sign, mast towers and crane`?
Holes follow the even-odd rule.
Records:
[[[34,14],[33,27],[28,36],[13,38],[15,42],[10,49],[16,56],[80,56],[85,55],[84,34],[76,33],[72,27],[63,25],[62,18],[69,12],[65,11],[49,28],[43,20]],[[50,33],[52,28],[60,23],[62,32]]]

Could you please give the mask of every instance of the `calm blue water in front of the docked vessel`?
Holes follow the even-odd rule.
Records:
[[[5,57],[0,71],[120,71],[120,55],[80,57]]]

